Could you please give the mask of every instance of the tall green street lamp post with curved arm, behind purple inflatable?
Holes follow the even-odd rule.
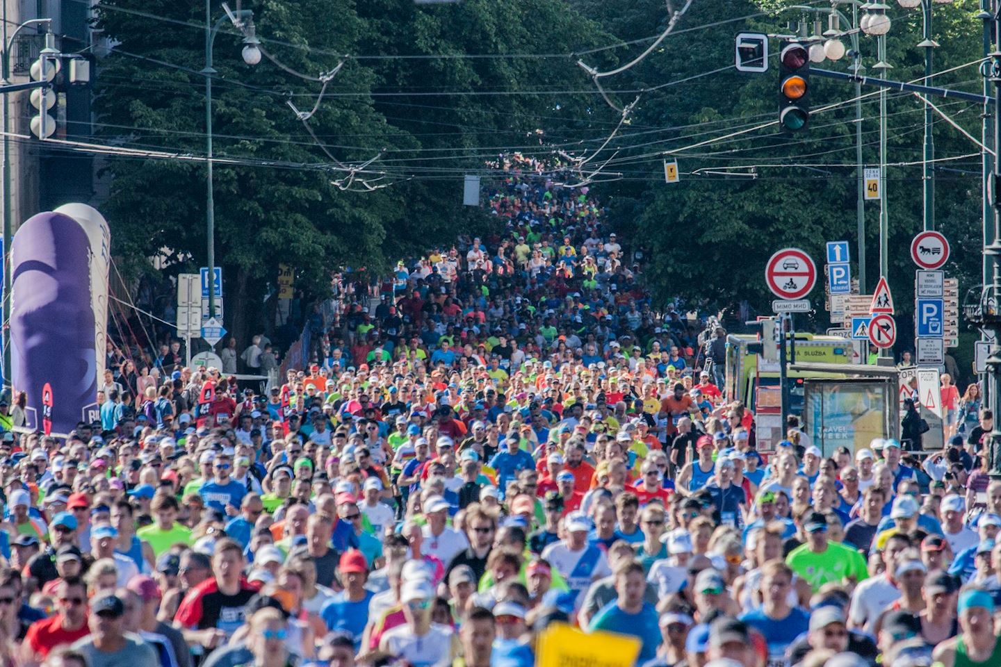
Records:
[[[215,200],[212,189],[212,77],[217,72],[212,67],[212,47],[215,45],[215,36],[219,28],[229,21],[243,34],[243,62],[247,65],[256,65],[260,62],[260,40],[254,34],[253,12],[249,9],[240,9],[235,12],[223,3],[222,8],[226,15],[219,18],[215,25],[212,25],[212,0],[205,0],[205,69],[201,74],[205,75],[205,154],[206,154],[206,176],[205,176],[205,236],[208,238],[208,317],[215,317]]]

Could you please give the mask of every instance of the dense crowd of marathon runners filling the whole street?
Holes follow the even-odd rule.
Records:
[[[637,665],[1001,666],[991,415],[920,469],[795,419],[759,453],[725,332],[504,160],[492,235],[400,262],[276,386],[168,349],[66,438],[0,403],[0,667],[528,667],[554,623]]]

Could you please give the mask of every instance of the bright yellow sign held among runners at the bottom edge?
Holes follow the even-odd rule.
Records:
[[[553,623],[539,635],[536,667],[633,667],[639,655],[639,637]]]

